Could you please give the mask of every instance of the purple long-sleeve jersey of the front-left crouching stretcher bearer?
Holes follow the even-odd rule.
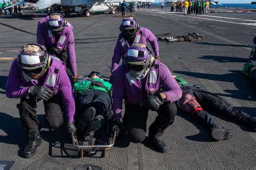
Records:
[[[50,66],[51,67],[51,66]],[[6,96],[8,98],[21,98],[28,94],[30,86],[42,86],[44,81],[44,76],[40,77],[38,80],[33,80],[32,82],[24,83],[21,76],[22,72],[17,65],[17,59],[12,62],[10,73],[6,82]],[[71,83],[68,75],[65,71],[65,65],[62,65],[59,73],[59,79],[57,83],[57,90],[53,91],[53,95],[60,93],[63,98],[64,107],[66,111],[66,116],[68,122],[73,121],[73,116],[75,115],[75,101],[73,99]],[[21,87],[24,84],[24,87]]]

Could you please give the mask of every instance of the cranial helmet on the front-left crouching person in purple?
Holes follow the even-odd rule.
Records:
[[[17,56],[18,66],[32,79],[38,79],[49,67],[49,55],[39,44],[27,44]]]

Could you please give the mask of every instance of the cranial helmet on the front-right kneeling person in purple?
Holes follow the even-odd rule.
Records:
[[[145,77],[153,59],[150,49],[144,44],[133,44],[125,54],[126,67],[137,79]]]

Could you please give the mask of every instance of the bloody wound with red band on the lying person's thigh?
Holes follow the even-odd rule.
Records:
[[[196,98],[191,94],[183,94],[177,104],[181,110],[192,115],[197,111],[203,110]]]

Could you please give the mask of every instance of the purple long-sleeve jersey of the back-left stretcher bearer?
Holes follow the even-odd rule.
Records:
[[[49,17],[48,17],[49,18]],[[48,36],[48,28],[45,24],[46,18],[42,18],[39,20],[37,25],[37,44],[40,45],[48,45],[48,46],[55,46],[55,44],[52,44],[50,41],[50,38],[46,38]],[[70,28],[71,29],[71,28]],[[46,31],[45,31],[46,30]],[[55,41],[57,42],[60,38],[60,34],[54,34],[53,38],[55,38]],[[68,40],[64,41],[64,49],[66,49],[66,52],[68,54],[68,60],[71,66],[71,72],[73,73],[73,76],[77,76],[77,65],[76,65],[76,53],[75,53],[75,40],[74,40],[74,34],[73,31],[70,31],[68,35],[66,35],[66,38]]]

